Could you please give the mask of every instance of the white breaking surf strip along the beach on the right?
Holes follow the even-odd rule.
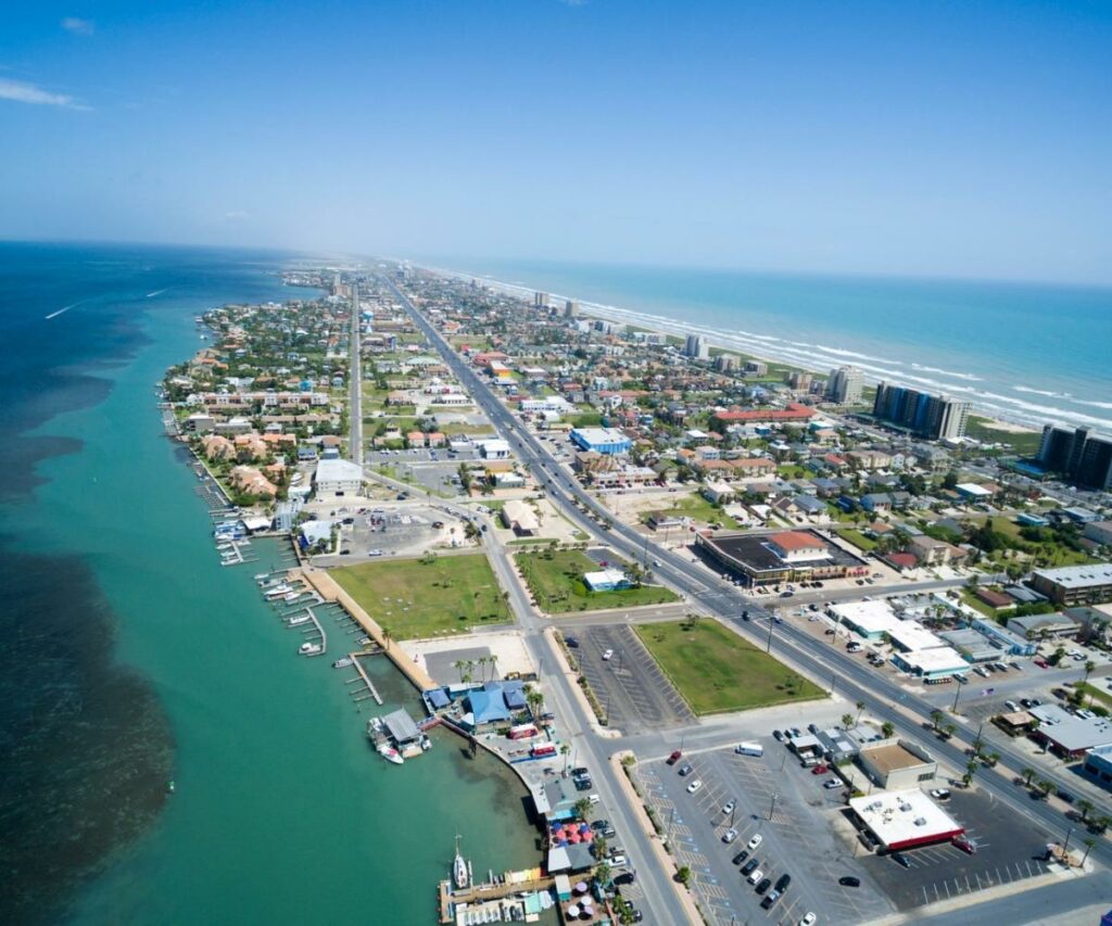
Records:
[[[493,277],[481,275],[481,273],[469,273],[461,270],[451,270],[443,267],[430,267],[426,265],[415,263],[414,267],[418,267],[435,276],[446,277],[449,279],[461,280],[469,282],[471,280],[478,281],[484,286],[487,286],[495,291],[502,292],[506,296],[514,298],[529,300],[533,293],[538,291],[536,287],[528,287],[523,283],[506,282],[504,280],[498,280]],[[550,292],[549,298],[554,301],[574,301],[579,307],[579,312],[582,316],[588,318],[597,318],[606,321],[617,321],[625,325],[631,325],[636,328],[642,328],[644,330],[653,331],[656,333],[668,335],[672,337],[685,338],[687,335],[696,333],[706,338],[707,342],[718,350],[727,354],[734,354],[741,358],[752,358],[755,360],[762,360],[767,364],[774,364],[778,367],[784,367],[792,370],[801,370],[804,372],[818,374],[821,376],[827,376],[832,368],[837,366],[855,366],[862,370],[865,384],[870,387],[876,386],[877,382],[885,381],[892,382],[900,386],[904,386],[911,389],[916,389],[922,392],[927,392],[930,395],[945,395],[952,398],[966,400],[972,407],[972,411],[979,418],[984,418],[991,424],[986,427],[990,430],[999,430],[1002,434],[1037,434],[1042,430],[1042,427],[1052,422],[1061,426],[1075,427],[1079,424],[1092,427],[1098,431],[1110,431],[1109,422],[1104,419],[1094,418],[1092,416],[1086,416],[1081,412],[1072,412],[1063,409],[1045,409],[1039,410],[1037,406],[1029,405],[1032,410],[1023,411],[1020,409],[1007,409],[1001,408],[995,402],[1012,402],[1016,405],[1023,404],[1023,400],[1015,399],[1006,396],[999,396],[996,394],[984,392],[974,388],[972,385],[954,385],[944,384],[936,380],[932,380],[927,377],[920,376],[919,374],[939,372],[943,374],[945,371],[937,370],[930,366],[920,365],[917,362],[912,362],[913,372],[906,372],[901,370],[884,370],[884,376],[880,376],[876,372],[878,368],[870,368],[871,364],[884,362],[890,365],[897,365],[902,361],[895,360],[880,360],[878,358],[873,358],[864,354],[860,354],[853,350],[845,350],[842,348],[821,348],[823,352],[832,355],[831,357],[821,357],[814,352],[814,346],[811,350],[805,350],[798,346],[792,346],[793,342],[784,341],[782,337],[770,335],[770,333],[754,333],[754,332],[737,332],[734,335],[724,335],[713,328],[708,328],[703,325],[685,323],[675,318],[669,318],[667,316],[656,315],[653,312],[641,311],[637,309],[628,309],[619,306],[606,305],[603,302],[595,302],[589,300],[582,300],[575,296]],[[790,350],[777,349],[774,345],[778,342],[784,342],[790,345]],[[865,361],[865,362],[858,362]],[[982,378],[974,376],[972,374],[946,374],[963,379],[966,382],[974,384],[981,381]],[[1041,394],[1040,390],[1027,389],[1026,391]],[[1068,419],[1068,420],[1063,420]],[[999,426],[999,427],[997,427]]]

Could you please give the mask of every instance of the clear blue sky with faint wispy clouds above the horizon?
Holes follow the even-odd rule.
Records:
[[[0,237],[1112,283],[1112,3],[20,3]]]

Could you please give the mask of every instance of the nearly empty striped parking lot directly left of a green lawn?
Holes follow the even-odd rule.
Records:
[[[609,726],[625,734],[645,733],[695,719],[629,627],[616,624],[576,630],[566,625],[562,629],[579,640],[579,670],[606,709]],[[613,650],[609,659],[603,659],[606,650]]]

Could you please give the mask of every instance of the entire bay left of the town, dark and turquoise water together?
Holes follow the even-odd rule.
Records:
[[[272,275],[296,260],[0,243],[0,922],[431,923],[457,833],[477,874],[539,860],[493,759],[370,750],[345,673],[297,657],[258,567],[220,567],[162,435],[193,317],[306,296]]]

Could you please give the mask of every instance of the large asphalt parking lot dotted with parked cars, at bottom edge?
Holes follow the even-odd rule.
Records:
[[[693,886],[707,917],[723,924],[758,920],[788,926],[808,912],[817,914],[820,923],[861,923],[891,913],[891,904],[856,857],[864,850],[833,826],[841,818],[841,790],[825,790],[825,776],[801,768],[775,740],[762,741],[762,758],[727,748],[685,756],[674,766],[663,760],[637,766],[643,794],[679,864],[694,873]],[[688,764],[692,771],[681,776],[679,769]],[[702,786],[688,794],[695,780]],[[736,807],[725,814],[731,799]],[[723,836],[731,827],[737,837],[727,845]],[[761,844],[748,850],[748,842],[757,835]],[[768,910],[732,862],[743,849],[749,857],[741,865],[757,858],[763,877],[773,883],[784,874],[792,877]],[[841,886],[838,878],[845,875],[861,878],[861,887]]]

